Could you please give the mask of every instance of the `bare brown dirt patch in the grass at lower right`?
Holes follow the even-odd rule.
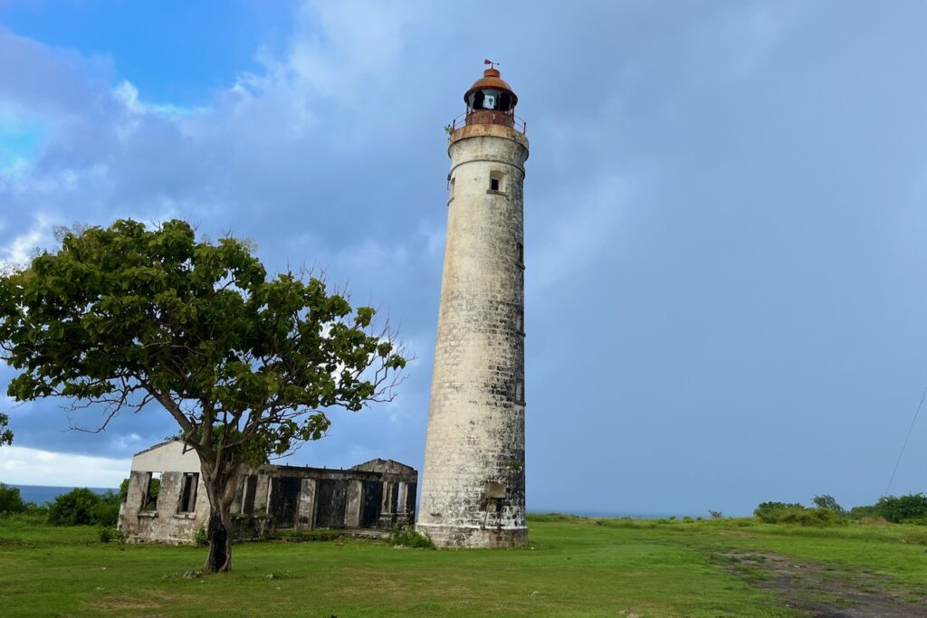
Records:
[[[834,564],[796,561],[764,551],[728,551],[713,556],[730,573],[769,590],[789,607],[826,618],[927,616],[927,599],[917,598],[891,579]]]

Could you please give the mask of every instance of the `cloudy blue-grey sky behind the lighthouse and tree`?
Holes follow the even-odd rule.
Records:
[[[927,5],[0,0],[0,260],[183,218],[400,327],[398,397],[289,462],[421,470],[447,135],[527,120],[529,511],[707,516],[927,490]],[[0,366],[0,391],[15,375]],[[0,399],[0,481],[116,486],[154,405]],[[927,412],[924,412],[927,417]],[[891,484],[889,481],[891,479]]]

